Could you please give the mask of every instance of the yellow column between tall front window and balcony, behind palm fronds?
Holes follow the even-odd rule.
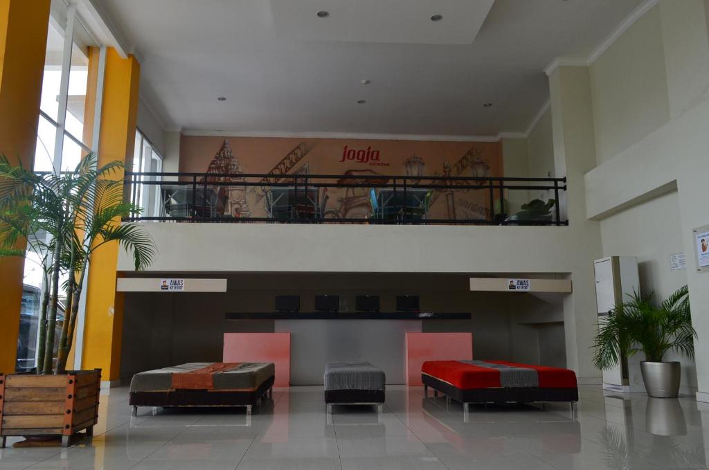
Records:
[[[123,59],[113,49],[106,57],[104,102],[101,110],[99,165],[120,160],[130,168],[138,119],[140,64]],[[115,174],[114,178],[123,177]],[[82,369],[101,368],[101,381],[115,381],[121,367],[123,294],[116,292],[118,243],[94,252],[86,292],[86,329]]]

